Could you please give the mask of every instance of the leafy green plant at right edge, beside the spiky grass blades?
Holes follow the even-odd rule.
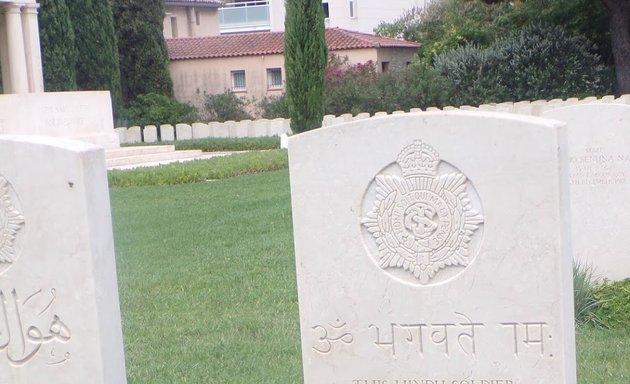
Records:
[[[595,315],[606,328],[630,329],[630,279],[606,281],[593,292]]]

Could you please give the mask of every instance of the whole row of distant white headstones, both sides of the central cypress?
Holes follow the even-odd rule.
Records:
[[[602,98],[586,97],[584,99],[570,98],[566,100],[535,100],[535,101],[519,101],[506,102],[498,104],[482,104],[478,107],[463,105],[459,108],[444,107],[442,109],[431,107],[426,110],[420,108],[412,108],[409,112],[430,112],[439,110],[463,110],[463,111],[489,111],[516,113],[520,115],[541,116],[547,111],[553,109],[567,107],[576,104],[592,104],[592,103],[611,103],[611,104],[628,104],[630,105],[630,94],[615,97],[612,95]],[[395,111],[392,114],[397,115],[407,113],[405,111]],[[326,115],[322,121],[322,127],[369,119],[370,117],[387,116],[387,112],[377,112],[374,115],[369,113],[359,113],[354,116],[352,114],[344,114],[341,116]],[[193,123],[193,124],[170,124],[161,125],[159,128],[154,125],[145,127],[120,127],[116,128],[121,144],[132,143],[157,143],[162,141],[204,139],[210,137],[265,137],[280,136],[282,134],[291,135],[290,119],[259,119],[259,120],[243,120],[243,121],[226,121],[224,123]]]

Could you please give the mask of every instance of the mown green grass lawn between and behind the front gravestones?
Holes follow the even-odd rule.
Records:
[[[111,195],[130,384],[302,382],[286,170]],[[577,348],[580,384],[630,383],[630,331]]]

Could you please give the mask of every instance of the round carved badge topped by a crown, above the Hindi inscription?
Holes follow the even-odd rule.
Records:
[[[483,223],[479,200],[473,207],[469,191],[476,193],[466,176],[422,141],[405,147],[396,163],[368,188],[375,196],[361,221],[368,248],[382,269],[404,281],[444,281],[475,256],[471,243],[480,243]]]

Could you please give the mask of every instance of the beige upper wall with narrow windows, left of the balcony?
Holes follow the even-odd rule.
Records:
[[[188,9],[192,9],[190,12]],[[199,25],[195,17],[199,12]],[[189,16],[192,16],[189,17]],[[171,18],[177,20],[177,36],[173,35]],[[166,6],[164,17],[164,38],[202,37],[219,35],[219,13],[217,8]]]

